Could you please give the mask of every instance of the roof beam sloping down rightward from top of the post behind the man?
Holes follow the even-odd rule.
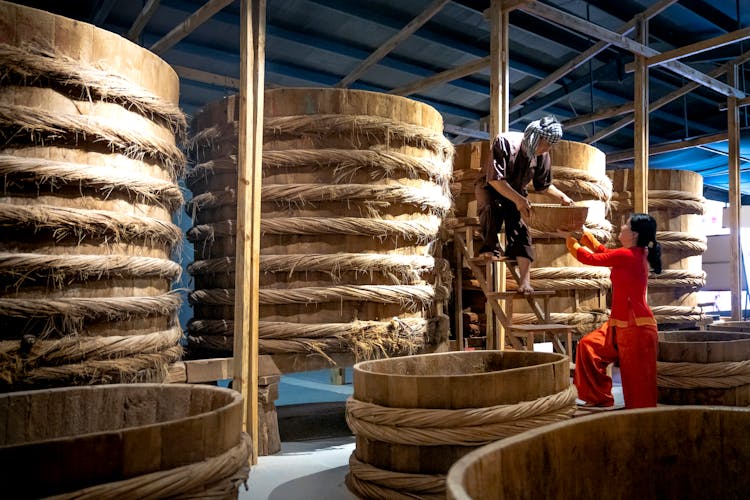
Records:
[[[580,17],[572,16],[566,12],[555,9],[541,2],[532,2],[529,4],[523,4],[519,7],[521,10],[530,12],[539,17],[543,17],[553,23],[561,24],[568,28],[574,29],[586,35],[594,36],[600,40],[607,41],[612,45],[625,49],[632,52],[635,55],[652,57],[659,55],[659,52],[649,48],[641,43],[638,43],[630,38],[610,31],[594,23],[590,23]],[[699,83],[715,92],[729,96],[732,95],[737,98],[745,97],[745,93],[730,86],[719,80],[709,77],[708,75],[701,73],[700,71],[687,66],[679,61],[669,61],[663,64],[665,68],[684,76],[688,80],[692,80]]]

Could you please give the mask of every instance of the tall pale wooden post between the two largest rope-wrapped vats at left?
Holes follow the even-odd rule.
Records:
[[[240,131],[232,387],[244,398],[243,427],[253,441],[251,460],[255,464],[258,462],[258,289],[266,0],[242,0],[240,17]]]

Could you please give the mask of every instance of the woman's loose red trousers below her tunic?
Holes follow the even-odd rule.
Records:
[[[573,383],[588,404],[612,406],[612,378],[607,366],[620,360],[626,408],[656,406],[656,326],[609,328],[609,322],[585,335],[576,351]]]

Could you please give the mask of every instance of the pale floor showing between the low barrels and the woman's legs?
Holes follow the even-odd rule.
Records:
[[[615,405],[624,404],[620,372],[613,369]],[[295,373],[281,377],[279,406],[300,403],[345,401],[352,393],[351,369],[346,372],[346,384],[333,385],[330,371]],[[311,404],[310,408],[316,406]],[[281,425],[281,420],[280,420]],[[351,500],[356,499],[344,484],[349,471],[349,456],[354,451],[354,437],[327,436],[316,439],[284,441],[281,452],[259,457],[250,471],[248,489],[240,488],[240,500]]]

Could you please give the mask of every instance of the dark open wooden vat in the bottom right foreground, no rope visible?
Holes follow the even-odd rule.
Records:
[[[452,500],[747,498],[750,409],[606,412],[480,448],[448,474]]]

